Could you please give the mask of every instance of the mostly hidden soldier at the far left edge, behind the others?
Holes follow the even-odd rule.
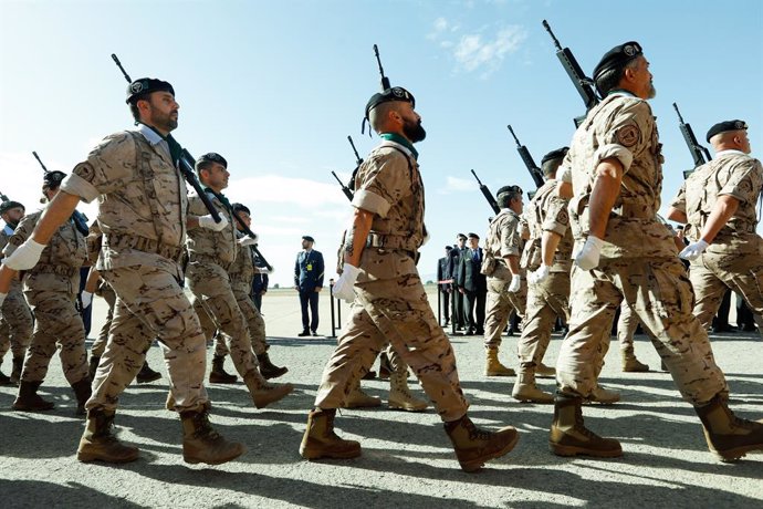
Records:
[[[2,250],[8,245],[8,239],[24,216],[24,206],[18,201],[3,201],[0,204],[0,217],[6,226],[0,230],[0,260]],[[0,364],[10,347],[13,354],[13,368],[11,376],[0,373],[0,385],[18,384],[21,380],[21,368],[24,364],[24,354],[32,341],[32,312],[24,300],[21,281],[13,279],[8,298],[0,307]]]

